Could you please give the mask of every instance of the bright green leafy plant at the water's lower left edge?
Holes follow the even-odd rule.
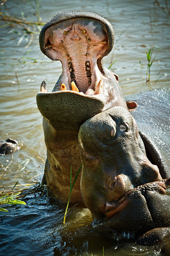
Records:
[[[0,196],[0,205],[1,204],[26,204],[24,201],[18,200],[15,197],[18,196],[21,192],[15,193],[12,195],[4,194]],[[1,212],[8,212],[5,208],[0,208]]]

